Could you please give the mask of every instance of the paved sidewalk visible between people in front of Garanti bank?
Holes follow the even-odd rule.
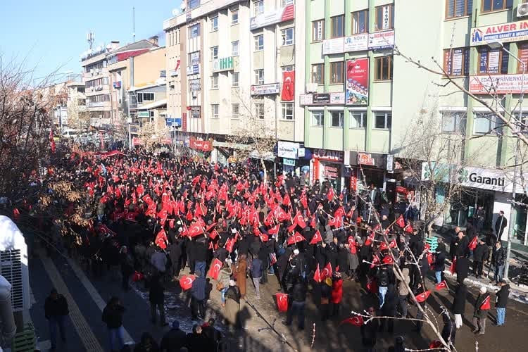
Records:
[[[443,239],[444,244],[446,244],[446,251],[449,252],[449,244],[451,243],[451,237],[450,237],[451,232],[450,231],[447,231],[444,233],[433,232],[433,236]],[[528,258],[528,253],[522,251],[522,249],[524,249],[522,246],[515,246],[514,248],[515,249],[512,249],[511,251],[511,257],[510,257],[510,277],[515,277],[515,275],[517,275],[516,272],[520,270],[521,263],[525,262]],[[470,261],[472,263],[472,260]],[[449,266],[451,266],[451,259],[447,258],[446,263],[447,263],[446,265],[447,269],[444,270],[444,275],[446,275],[446,277],[456,277],[456,274],[452,275],[451,272],[449,271]],[[476,287],[486,287],[492,292],[497,291],[498,287],[494,284],[490,284],[489,282],[490,279],[494,277],[493,268],[491,269],[491,272],[489,272],[490,276],[488,276],[488,270],[489,270],[489,266],[484,265],[482,279],[477,279],[470,273],[470,275],[465,279],[465,282],[470,283],[472,284],[472,286],[476,286]],[[513,298],[516,301],[519,301],[521,303],[528,303],[528,286],[522,285],[522,284],[521,285],[515,284],[511,282],[509,279],[508,279],[508,283],[510,284],[510,298]]]

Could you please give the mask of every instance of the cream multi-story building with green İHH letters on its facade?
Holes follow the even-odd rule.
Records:
[[[182,119],[182,142],[210,139],[213,159],[225,161],[229,135],[303,139],[295,99],[303,8],[293,0],[194,1],[165,21],[168,117]]]

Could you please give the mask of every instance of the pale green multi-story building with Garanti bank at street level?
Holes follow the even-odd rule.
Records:
[[[437,133],[463,135],[463,158],[473,165],[462,181],[467,195],[440,224],[465,226],[479,206],[485,229],[499,210],[508,217],[511,177],[493,180],[508,178],[510,171],[496,168],[513,165],[517,140],[482,101],[507,115],[520,113],[528,63],[526,1],[298,2],[306,3],[306,92],[296,99],[304,107],[311,180],[327,178],[341,189],[356,187],[364,175],[367,184],[394,196],[397,185],[406,185],[394,161],[406,147],[410,124],[422,113],[436,114]],[[515,211],[515,237],[526,244],[526,207]]]

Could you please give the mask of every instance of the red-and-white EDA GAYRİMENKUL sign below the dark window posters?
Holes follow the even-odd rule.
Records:
[[[521,75],[471,76],[470,93],[472,94],[516,94],[528,92],[528,77],[522,83]]]

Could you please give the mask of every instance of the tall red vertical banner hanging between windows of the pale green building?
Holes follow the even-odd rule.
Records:
[[[346,105],[368,105],[368,58],[346,61]]]

